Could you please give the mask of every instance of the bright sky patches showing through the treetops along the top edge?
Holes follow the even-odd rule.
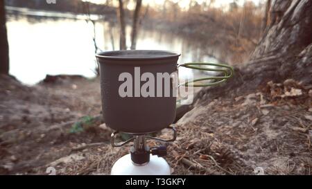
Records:
[[[105,0],[85,0],[85,1],[91,1],[93,3],[105,3]],[[144,4],[150,3],[150,4],[162,5],[164,3],[164,1],[165,0],[143,0],[143,3]],[[189,5],[189,0],[172,0],[172,1],[179,2],[179,5],[181,6],[181,8],[186,8]],[[202,3],[204,0],[197,0],[197,1],[198,1],[198,3]],[[263,0],[237,0],[237,3],[239,4],[239,6],[242,6],[245,1],[253,1],[256,5],[258,5],[259,2],[261,2]],[[214,6],[218,8],[218,7],[226,6],[232,2],[233,2],[233,0],[216,0],[214,2]],[[128,7],[128,8],[132,9],[132,7]]]

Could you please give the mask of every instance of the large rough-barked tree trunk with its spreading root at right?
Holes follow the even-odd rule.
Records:
[[[288,78],[312,83],[312,0],[272,0],[270,23],[250,60],[236,68],[234,78],[203,89],[197,99],[209,102],[232,91],[254,91],[261,84]],[[205,98],[204,98],[205,97]]]

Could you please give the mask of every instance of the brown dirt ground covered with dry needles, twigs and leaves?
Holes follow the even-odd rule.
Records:
[[[311,174],[311,100],[312,86],[293,80],[198,100],[175,124],[166,160],[173,174]],[[110,146],[111,132],[101,124],[98,78],[33,87],[0,78],[0,174],[110,174],[128,154]]]

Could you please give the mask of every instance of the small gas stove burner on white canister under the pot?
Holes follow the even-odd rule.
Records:
[[[114,139],[119,132],[112,133],[112,147],[121,147],[127,143],[133,142],[130,147],[130,154],[127,154],[117,160],[112,167],[112,175],[135,175],[135,174],[159,174],[170,175],[171,168],[164,160],[167,154],[166,143],[175,141],[177,132],[175,127],[167,127],[173,131],[173,138],[166,140],[155,138],[147,134],[134,135],[123,143],[115,143]],[[148,147],[146,140],[152,139],[159,141],[162,145],[156,147]]]

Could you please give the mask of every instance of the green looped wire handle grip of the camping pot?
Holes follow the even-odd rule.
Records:
[[[205,66],[216,66],[214,69],[210,68],[203,68],[198,65],[205,65]],[[214,64],[214,63],[206,63],[206,62],[193,62],[193,63],[184,63],[180,64],[179,66],[183,66],[189,69],[197,69],[197,70],[203,70],[203,71],[216,71],[216,72],[222,72],[222,76],[214,76],[214,77],[207,77],[207,78],[199,78],[196,80],[191,80],[189,82],[184,82],[180,84],[180,86],[184,87],[208,87],[208,86],[214,86],[223,82],[226,82],[229,78],[232,78],[234,75],[234,69],[232,66],[226,65],[226,64]],[[209,82],[206,84],[196,84],[196,82],[203,81],[203,80],[215,80],[214,82]]]

